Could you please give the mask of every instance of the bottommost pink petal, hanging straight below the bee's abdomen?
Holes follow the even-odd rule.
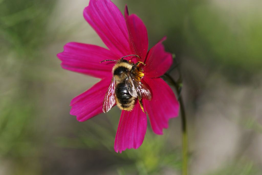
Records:
[[[137,103],[132,111],[122,110],[114,150],[121,153],[125,149],[137,149],[144,140],[146,134],[146,114],[142,112]]]

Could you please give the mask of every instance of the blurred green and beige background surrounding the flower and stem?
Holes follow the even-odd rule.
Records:
[[[176,55],[190,174],[262,174],[262,1],[112,1],[144,21],[150,47],[166,35]],[[70,100],[99,81],[56,57],[70,41],[104,46],[83,18],[88,3],[0,0],[0,174],[180,174],[180,117],[117,154],[118,108],[86,122],[69,115]]]

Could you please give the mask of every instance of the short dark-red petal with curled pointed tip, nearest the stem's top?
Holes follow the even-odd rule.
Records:
[[[160,77],[173,64],[172,54],[165,51],[162,42],[166,39],[164,37],[154,47],[148,51],[145,60],[144,74],[150,78]]]

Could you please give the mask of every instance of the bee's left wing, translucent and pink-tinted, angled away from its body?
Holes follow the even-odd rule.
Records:
[[[109,88],[107,89],[105,99],[103,101],[103,112],[108,112],[116,103],[114,96],[115,92],[115,78],[112,78]]]

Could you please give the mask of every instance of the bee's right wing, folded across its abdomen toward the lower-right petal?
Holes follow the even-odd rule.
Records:
[[[129,94],[132,95],[132,97],[151,100],[152,95],[150,90],[145,86],[145,84],[141,83],[131,72],[127,73],[125,85],[127,86],[127,90]]]

